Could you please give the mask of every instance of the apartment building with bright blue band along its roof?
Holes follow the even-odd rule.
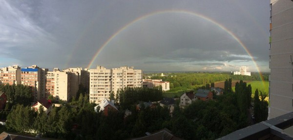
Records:
[[[31,87],[34,100],[45,98],[45,73],[48,69],[39,68],[37,65],[21,68],[21,84]]]

